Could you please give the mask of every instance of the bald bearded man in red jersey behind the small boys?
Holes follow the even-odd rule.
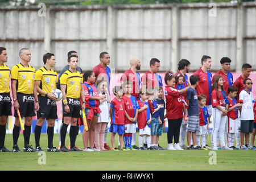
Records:
[[[128,69],[125,73],[123,73],[121,77],[121,85],[125,81],[130,81],[132,83],[133,91],[131,92],[131,95],[136,98],[136,100],[139,100],[139,89],[141,85],[141,76],[139,75],[138,71],[141,69],[141,61],[138,58],[132,58],[130,60],[131,68]],[[136,124],[136,122],[134,122]],[[132,140],[131,140],[131,147],[133,149],[139,149],[139,147],[135,146],[136,143],[136,133],[132,134]]]

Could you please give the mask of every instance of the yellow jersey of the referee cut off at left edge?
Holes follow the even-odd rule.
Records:
[[[10,93],[10,68],[0,65],[0,93]]]

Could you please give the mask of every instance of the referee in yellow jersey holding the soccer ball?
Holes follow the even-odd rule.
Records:
[[[56,61],[53,53],[43,55],[44,66],[36,71],[35,86],[38,90],[39,111],[37,112],[38,121],[35,126],[35,144],[36,151],[42,151],[40,147],[40,134],[45,119],[47,120],[48,152],[60,152],[53,146],[53,134],[55,119],[57,116],[56,98],[52,91],[56,89],[58,81],[57,72],[52,68],[55,67]]]

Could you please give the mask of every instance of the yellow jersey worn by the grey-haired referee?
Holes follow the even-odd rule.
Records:
[[[24,67],[21,63],[11,69],[11,80],[17,80],[17,93],[33,94],[35,84],[35,68],[28,65]]]

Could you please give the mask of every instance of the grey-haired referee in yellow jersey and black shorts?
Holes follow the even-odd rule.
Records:
[[[34,86],[35,68],[28,64],[31,60],[31,52],[28,48],[20,49],[19,57],[21,59],[20,63],[16,64],[13,69],[11,69],[11,91],[13,92],[15,117],[13,128],[13,152],[20,152],[17,144],[20,127],[17,110],[20,111],[21,117],[25,118],[23,151],[36,152],[36,150],[29,144],[32,117],[36,115],[35,111],[39,110],[38,94],[36,87]]]

